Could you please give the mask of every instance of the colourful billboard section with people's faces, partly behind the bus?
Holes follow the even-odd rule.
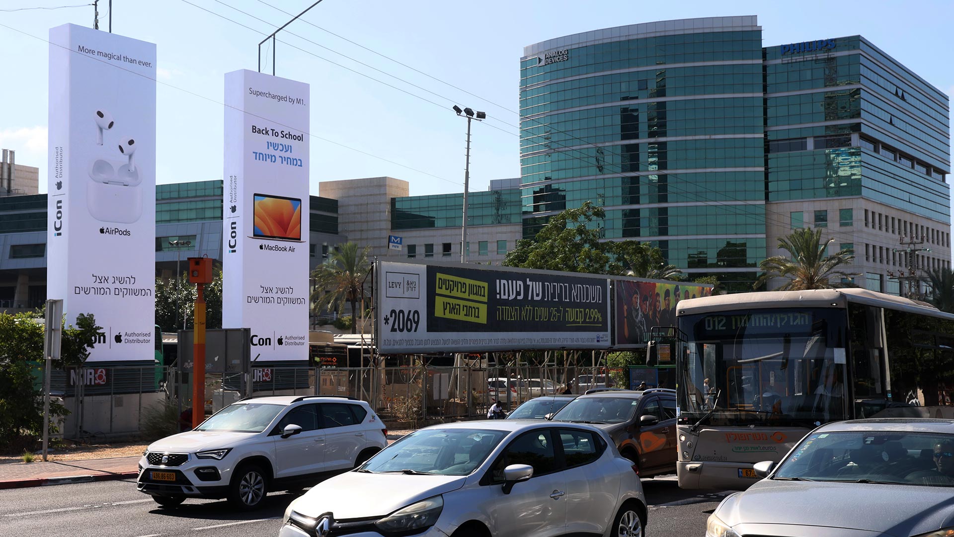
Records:
[[[643,347],[653,327],[675,326],[680,300],[712,294],[712,286],[693,283],[614,280],[614,348]]]

